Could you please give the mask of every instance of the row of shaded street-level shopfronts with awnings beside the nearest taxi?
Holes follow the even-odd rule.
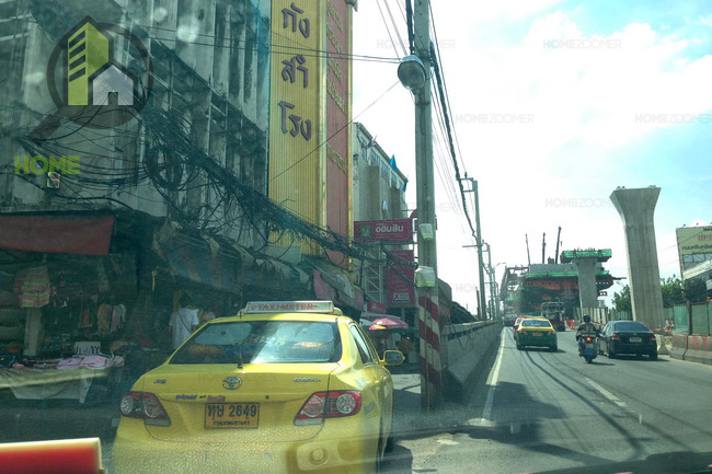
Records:
[[[171,354],[184,294],[209,319],[313,287],[300,268],[138,212],[0,216],[0,391],[115,396]]]

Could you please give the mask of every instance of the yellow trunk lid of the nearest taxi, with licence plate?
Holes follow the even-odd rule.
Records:
[[[161,440],[211,443],[287,442],[315,436],[322,425],[295,426],[314,392],[329,390],[337,363],[163,366],[139,390],[154,393],[169,426],[146,425]]]

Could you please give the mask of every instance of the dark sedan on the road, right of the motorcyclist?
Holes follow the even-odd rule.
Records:
[[[598,351],[609,359],[619,354],[646,355],[657,359],[655,334],[640,321],[611,321],[598,337]]]

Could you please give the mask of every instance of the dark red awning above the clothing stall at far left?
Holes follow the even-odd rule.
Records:
[[[0,248],[108,255],[113,216],[0,216]]]

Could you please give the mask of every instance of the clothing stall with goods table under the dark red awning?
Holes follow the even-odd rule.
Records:
[[[115,217],[0,216],[0,390],[80,403],[93,384],[106,392],[136,291],[136,255],[110,255]]]

